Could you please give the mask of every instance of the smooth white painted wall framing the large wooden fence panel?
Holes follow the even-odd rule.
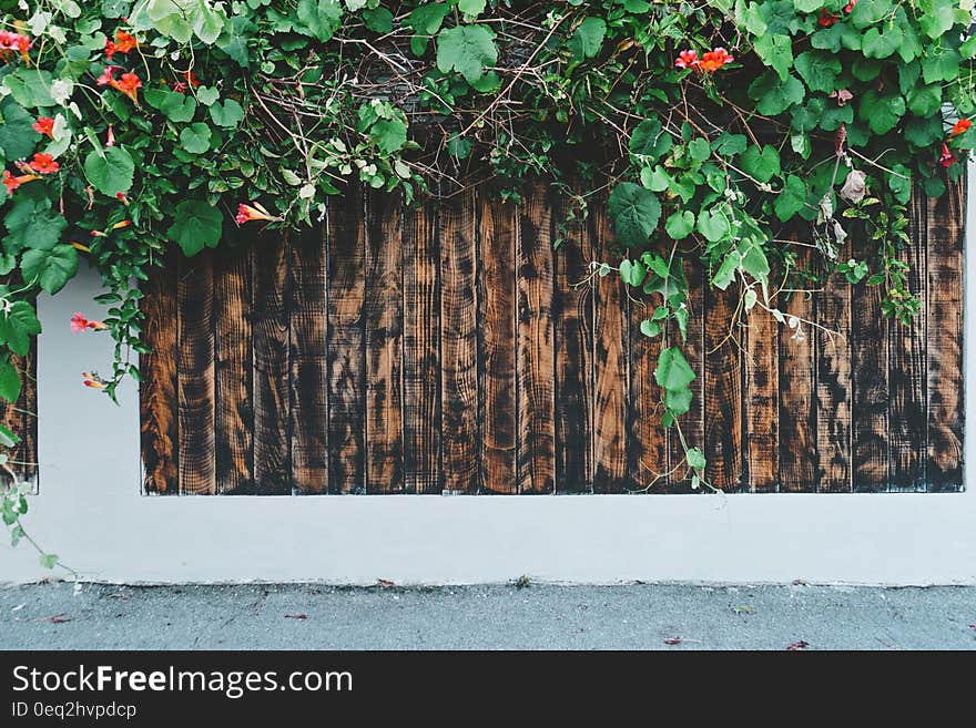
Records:
[[[974,230],[970,204],[967,271],[976,270]],[[967,274],[967,305],[973,287]],[[94,276],[82,275],[40,303],[40,495],[24,519],[85,578],[976,584],[969,469],[957,494],[141,496],[135,388],[124,387],[115,407],[82,387],[80,372],[109,361],[111,342],[69,332],[72,311],[95,315],[96,293]],[[976,412],[973,390],[967,412]],[[967,438],[967,463],[974,447]],[[48,574],[27,545],[0,546],[0,582]]]

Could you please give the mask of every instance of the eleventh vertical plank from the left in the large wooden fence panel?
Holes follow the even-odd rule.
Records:
[[[535,184],[526,194],[518,237],[519,493],[556,489],[551,211],[546,188]]]

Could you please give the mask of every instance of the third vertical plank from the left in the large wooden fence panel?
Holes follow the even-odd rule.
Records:
[[[254,239],[214,254],[215,458],[218,493],[253,492],[254,368],[251,336]]]

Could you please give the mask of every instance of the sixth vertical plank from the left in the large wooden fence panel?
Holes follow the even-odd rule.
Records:
[[[366,488],[366,240],[363,191],[329,201],[328,492]]]

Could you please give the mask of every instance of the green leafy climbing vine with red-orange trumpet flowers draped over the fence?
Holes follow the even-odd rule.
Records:
[[[114,398],[145,352],[139,281],[167,248],[311,224],[350,181],[407,201],[491,181],[518,199],[542,176],[576,202],[570,219],[607,205],[619,253],[593,280],[619,275],[648,305],[641,335],[675,342],[661,345],[655,397],[680,434],[690,260],[738,293],[736,318],[773,316],[793,336],[812,322],[777,301],[833,275],[881,287],[885,312],[909,320],[905,204],[916,186],[941,195],[976,145],[973,0],[0,8],[10,401],[37,295],[82,259],[109,315],[79,330],[115,341],[110,369],[83,381]],[[572,239],[568,225],[560,243]],[[0,428],[0,444],[17,437]],[[684,444],[680,468],[703,483],[702,451]],[[3,501],[14,529],[21,490]]]

